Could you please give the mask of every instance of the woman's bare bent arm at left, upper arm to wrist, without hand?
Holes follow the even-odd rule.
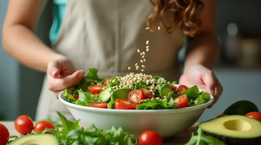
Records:
[[[47,0],[9,0],[3,24],[3,47],[22,64],[46,71],[49,61],[63,57],[44,45],[35,28]]]

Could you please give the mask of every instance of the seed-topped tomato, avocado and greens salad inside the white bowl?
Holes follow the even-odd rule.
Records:
[[[73,93],[64,90],[65,99],[73,104],[109,109],[174,109],[205,104],[210,94],[201,92],[197,86],[176,87],[176,81],[163,77],[130,73],[123,77],[106,79],[90,68]]]

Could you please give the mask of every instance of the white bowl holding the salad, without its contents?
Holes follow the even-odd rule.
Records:
[[[86,127],[94,124],[97,128],[108,130],[112,126],[122,127],[135,138],[148,130],[159,133],[163,138],[173,136],[189,129],[200,118],[204,109],[209,106],[214,97],[202,105],[164,110],[117,110],[80,106],[67,102],[63,95],[59,99],[63,102],[76,120],[80,119]]]

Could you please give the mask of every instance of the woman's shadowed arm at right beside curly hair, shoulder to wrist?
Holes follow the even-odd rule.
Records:
[[[197,64],[212,69],[219,58],[219,43],[215,31],[215,4],[216,0],[204,1],[204,8],[199,16],[202,21],[200,35],[189,39],[184,72]]]

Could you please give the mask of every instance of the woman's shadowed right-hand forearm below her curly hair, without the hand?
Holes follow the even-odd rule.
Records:
[[[217,37],[213,34],[202,34],[192,38],[186,51],[184,63],[184,73],[191,66],[202,64],[212,69],[218,61],[220,55],[219,43]]]

